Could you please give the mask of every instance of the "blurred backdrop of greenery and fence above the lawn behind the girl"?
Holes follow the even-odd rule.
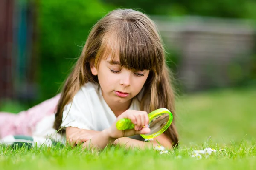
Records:
[[[3,5],[9,7],[13,19],[12,22],[6,21],[11,22],[13,28],[10,33],[12,44],[9,45],[12,54],[6,54],[12,59],[12,64],[6,70],[2,68],[1,71],[9,74],[2,77],[0,84],[10,75],[12,79],[8,79],[8,85],[1,86],[3,95],[0,107],[16,101],[28,108],[57,94],[79,57],[90,28],[115,8],[137,9],[156,22],[165,42],[167,63],[174,73],[179,94],[255,84],[254,0],[11,0]],[[193,24],[201,27],[194,28]],[[237,29],[232,30],[234,27]],[[211,32],[209,28],[220,31]],[[223,28],[226,30],[222,31]],[[180,31],[182,29],[183,32]],[[229,37],[218,42],[214,39],[227,35]],[[213,38],[206,40],[203,37],[204,42],[201,42],[200,36]],[[189,46],[196,42],[201,44]],[[219,47],[212,48],[212,51],[216,51],[214,54],[208,46],[202,46],[208,44],[212,47],[219,42],[225,42],[221,48],[234,42],[240,44],[233,44],[233,48],[227,47],[222,52],[219,52]],[[243,45],[244,48],[232,53]],[[205,51],[190,56],[187,54],[192,54],[196,49]],[[210,53],[214,57],[211,58]],[[195,60],[199,55],[201,59]],[[223,60],[216,60],[225,57],[226,65],[221,65]],[[215,65],[212,65],[213,62]],[[228,69],[221,70],[221,67]]]

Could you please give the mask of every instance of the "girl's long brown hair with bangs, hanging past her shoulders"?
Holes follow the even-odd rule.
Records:
[[[54,127],[60,129],[65,105],[88,81],[99,83],[90,71],[90,61],[99,61],[111,54],[119,57],[123,67],[150,70],[143,91],[140,92],[142,111],[148,113],[157,108],[169,109],[175,120],[174,91],[165,62],[165,51],[157,28],[145,14],[132,9],[116,9],[99,20],[90,31],[81,56],[67,78],[58,102]],[[175,122],[165,134],[178,146]],[[61,131],[61,130],[59,130]]]

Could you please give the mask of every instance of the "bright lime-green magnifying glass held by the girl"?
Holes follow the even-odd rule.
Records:
[[[166,108],[154,110],[148,114],[150,133],[142,134],[144,139],[150,139],[162,134],[172,123],[172,113]],[[128,118],[119,119],[116,122],[118,130],[134,129],[134,124]]]

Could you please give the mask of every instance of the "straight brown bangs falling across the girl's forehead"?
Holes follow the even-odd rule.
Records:
[[[160,62],[161,49],[144,30],[123,26],[102,39],[101,59],[119,61],[130,70],[154,70]]]

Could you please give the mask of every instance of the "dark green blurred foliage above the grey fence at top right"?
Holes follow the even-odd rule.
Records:
[[[147,14],[254,18],[255,0],[102,0],[116,8],[135,8]]]

